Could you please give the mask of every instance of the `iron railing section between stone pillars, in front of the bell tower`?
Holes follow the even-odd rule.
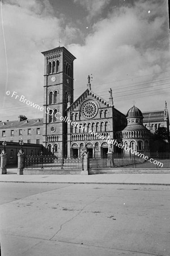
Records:
[[[24,168],[48,168],[56,170],[81,170],[82,159],[63,156],[25,156]]]

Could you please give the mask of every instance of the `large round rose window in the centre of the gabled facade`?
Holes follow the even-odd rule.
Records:
[[[85,101],[82,105],[82,114],[85,118],[93,118],[97,114],[97,104],[94,101]]]

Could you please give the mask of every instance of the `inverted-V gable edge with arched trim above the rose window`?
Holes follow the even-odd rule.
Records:
[[[108,104],[107,101],[105,101],[103,98],[101,98],[100,96],[98,96],[96,93],[92,92],[92,90],[85,90],[85,92],[82,93],[82,95],[80,95],[70,106],[69,108],[67,108],[68,110],[74,110],[77,108],[77,106],[79,106],[80,104],[82,104],[82,102],[84,100],[86,100],[86,98],[88,98],[88,96],[91,96],[92,98],[94,98],[94,100],[97,100],[99,102],[101,102],[101,104],[104,104],[106,107],[110,107],[111,105]]]

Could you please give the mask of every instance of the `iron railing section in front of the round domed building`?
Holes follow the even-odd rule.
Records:
[[[148,156],[148,160],[145,159]],[[151,152],[150,155],[144,154],[125,155],[114,153],[109,158],[96,156],[89,159],[90,168],[169,168],[170,152]]]

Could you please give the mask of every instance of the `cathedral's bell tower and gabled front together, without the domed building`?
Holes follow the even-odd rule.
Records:
[[[75,57],[65,47],[57,47],[42,54],[45,59],[45,147],[55,155],[78,157],[85,147],[90,156],[106,155],[107,137],[113,138],[116,131],[126,126],[125,115],[114,108],[112,89],[107,102],[92,92],[88,76],[87,89],[73,102]],[[72,122],[77,125],[72,125]]]

